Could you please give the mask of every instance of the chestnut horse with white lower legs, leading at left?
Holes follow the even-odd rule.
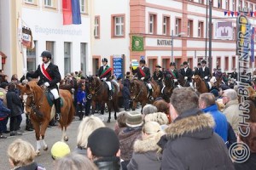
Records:
[[[50,106],[46,97],[46,90],[38,86],[38,81],[32,80],[26,85],[17,85],[20,88],[20,94],[27,95],[26,98],[26,113],[32,120],[33,127],[36,133],[37,150],[39,156],[41,146],[44,150],[48,150],[47,144],[44,142],[44,134],[50,120],[55,116],[55,106]],[[63,100],[61,107],[60,126],[62,131],[61,140],[68,140],[66,136],[67,126],[73,121],[75,108],[73,106],[72,95],[67,90],[60,90],[60,96]]]

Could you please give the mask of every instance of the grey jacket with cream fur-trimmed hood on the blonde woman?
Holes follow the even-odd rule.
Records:
[[[133,145],[133,155],[127,166],[128,170],[160,170],[162,155],[157,145],[163,133],[156,133],[153,138],[138,139]]]

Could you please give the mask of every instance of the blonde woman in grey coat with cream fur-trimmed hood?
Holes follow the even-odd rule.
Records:
[[[143,139],[133,145],[133,155],[128,170],[157,170],[161,167],[161,149],[157,145],[163,135],[158,122],[146,122],[143,126]]]

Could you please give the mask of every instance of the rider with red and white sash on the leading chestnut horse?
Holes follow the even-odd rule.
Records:
[[[60,121],[61,116],[61,98],[59,95],[59,89],[57,86],[58,82],[61,82],[61,74],[59,71],[59,68],[57,65],[54,65],[50,62],[51,59],[51,53],[49,51],[43,51],[41,54],[41,57],[43,58],[43,63],[41,65],[38,65],[37,71],[35,71],[32,74],[27,74],[27,77],[32,78],[38,78],[40,77],[40,80],[38,81],[38,85],[44,85],[46,86],[51,94],[53,94],[55,98],[55,119],[57,121]]]

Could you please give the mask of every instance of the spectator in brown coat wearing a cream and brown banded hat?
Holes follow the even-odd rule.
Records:
[[[140,112],[130,111],[126,114],[127,127],[119,133],[119,143],[122,169],[126,169],[131,160],[133,144],[136,139],[142,139],[143,116]]]

